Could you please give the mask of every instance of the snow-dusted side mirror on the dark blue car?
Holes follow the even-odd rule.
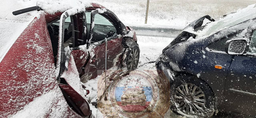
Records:
[[[240,55],[245,53],[246,49],[245,39],[232,39],[225,43],[225,52],[231,55]]]

